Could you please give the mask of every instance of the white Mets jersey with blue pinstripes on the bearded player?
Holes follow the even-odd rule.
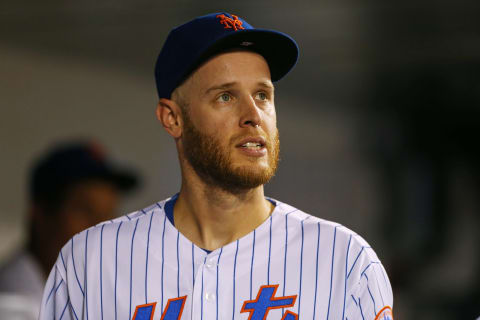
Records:
[[[259,227],[210,253],[172,225],[166,201],[75,235],[40,319],[393,319],[388,277],[365,240],[273,201]]]

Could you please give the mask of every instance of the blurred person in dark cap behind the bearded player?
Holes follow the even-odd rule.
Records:
[[[115,218],[120,193],[135,184],[133,173],[115,168],[101,146],[90,141],[57,145],[36,162],[30,174],[26,247],[0,267],[0,294],[21,304],[10,303],[9,310],[38,315],[58,251],[76,233]],[[4,316],[5,308],[0,308]]]

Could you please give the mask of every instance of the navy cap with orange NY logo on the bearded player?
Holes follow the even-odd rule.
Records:
[[[283,78],[298,59],[298,45],[290,36],[256,29],[234,14],[211,13],[182,24],[168,34],[155,64],[158,96],[169,99],[175,88],[203,62],[234,48],[261,54],[268,63],[273,82]]]

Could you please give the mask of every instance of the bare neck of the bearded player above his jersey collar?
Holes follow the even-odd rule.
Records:
[[[263,185],[233,194],[195,178],[182,179],[174,220],[175,227],[201,248],[215,250],[243,237],[273,211]]]

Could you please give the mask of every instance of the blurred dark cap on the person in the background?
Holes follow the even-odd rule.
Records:
[[[38,200],[88,179],[111,182],[120,191],[129,191],[138,183],[133,171],[117,168],[109,162],[98,143],[71,142],[53,147],[33,166],[30,196]]]

